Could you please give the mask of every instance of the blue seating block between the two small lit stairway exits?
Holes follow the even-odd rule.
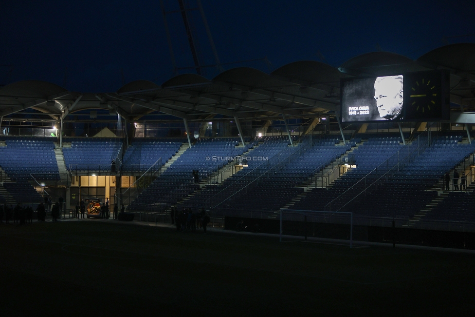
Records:
[[[288,146],[289,141],[286,138],[263,138],[261,141],[248,156],[268,157],[267,161],[250,161],[247,168],[226,179],[222,185],[206,186],[200,194],[187,200],[184,205],[214,207],[220,200],[231,197],[222,206],[218,206],[218,214],[223,208],[278,210],[304,191],[296,186],[351,148],[351,145],[335,145],[340,142],[339,139],[317,141],[311,148]],[[267,171],[270,173],[264,174]],[[247,188],[242,189],[246,186]],[[240,191],[234,195],[237,190]]]

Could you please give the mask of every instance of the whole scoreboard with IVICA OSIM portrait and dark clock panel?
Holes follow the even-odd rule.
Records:
[[[341,121],[448,120],[449,89],[448,71],[342,79]]]

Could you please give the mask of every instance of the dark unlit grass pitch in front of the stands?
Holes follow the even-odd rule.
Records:
[[[105,221],[0,225],[1,316],[473,316],[475,255]]]

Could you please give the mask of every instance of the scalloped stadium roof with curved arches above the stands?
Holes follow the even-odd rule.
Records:
[[[448,69],[451,102],[475,111],[475,44],[452,44],[417,60],[372,52],[334,68],[318,61],[296,61],[270,74],[247,67],[222,72],[214,79],[184,74],[157,85],[148,80],[129,82],[116,92],[70,92],[53,83],[25,80],[0,89],[3,119],[36,114],[59,120],[83,110],[104,109],[129,120],[166,114],[188,120],[219,118],[314,118],[339,111],[340,79],[403,72]],[[33,109],[26,111],[26,109]]]

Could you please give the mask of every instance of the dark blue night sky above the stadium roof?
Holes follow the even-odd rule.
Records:
[[[338,67],[380,49],[416,59],[445,44],[475,42],[473,0],[201,1],[221,62],[267,57],[273,67],[254,61],[225,69],[269,72],[321,56]],[[177,0],[164,2],[167,11],[179,8]],[[196,7],[196,0],[187,2]],[[199,12],[191,18],[201,61],[211,64]],[[171,13],[167,20],[177,66],[193,66],[181,15]],[[12,66],[0,66],[0,84],[38,79],[72,91],[106,92],[123,81],[162,84],[173,76],[159,0],[3,0],[0,43],[0,64]],[[211,68],[205,76],[217,74]]]

